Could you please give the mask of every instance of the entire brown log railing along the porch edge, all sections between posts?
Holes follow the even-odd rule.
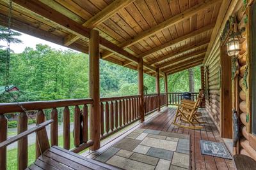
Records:
[[[167,104],[167,94],[160,94],[160,106]],[[90,118],[88,108],[93,104],[92,99],[70,99],[59,101],[36,101],[24,102],[20,105],[26,111],[34,111],[36,113],[36,124],[45,122],[48,113],[52,119],[50,136],[51,146],[59,144],[59,136],[63,135],[63,148],[71,150],[72,152],[81,152],[82,150],[93,145],[90,139],[89,123]],[[157,110],[158,96],[157,94],[148,94],[144,96],[144,114],[147,115]],[[0,143],[7,139],[7,118],[8,113],[17,114],[17,133],[20,134],[28,130],[28,115],[24,113],[17,103],[2,103],[0,104]],[[73,117],[71,117],[73,115]],[[58,119],[62,117],[63,120],[63,134],[59,134],[60,124]],[[70,125],[74,127],[70,131]],[[100,139],[104,139],[111,134],[119,131],[123,127],[132,124],[140,119],[140,95],[137,96],[123,96],[123,97],[102,97],[100,98]],[[73,134],[73,141],[70,141],[70,133]],[[70,143],[74,143],[74,148],[70,148]],[[40,156],[40,148],[38,142],[36,145],[36,157]],[[72,145],[73,146],[73,145]],[[18,141],[19,161],[18,169],[25,169],[28,166],[28,136],[19,139]],[[6,147],[0,148],[0,164],[6,166]],[[3,166],[0,166],[3,167]]]

